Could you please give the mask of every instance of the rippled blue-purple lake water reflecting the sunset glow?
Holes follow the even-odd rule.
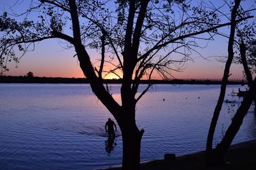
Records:
[[[239,87],[229,85],[227,94]],[[120,102],[119,88],[111,85]],[[220,85],[154,85],[136,108],[138,127],[145,129],[141,161],[204,150],[219,92]],[[0,84],[0,96],[0,169],[97,169],[122,163],[120,129],[109,148],[104,125],[111,115],[89,85]],[[223,103],[214,145],[242,100],[225,99],[232,103]],[[255,138],[250,108],[234,143]]]

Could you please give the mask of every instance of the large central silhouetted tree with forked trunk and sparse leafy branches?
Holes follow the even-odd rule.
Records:
[[[24,55],[35,42],[53,38],[67,41],[67,48],[76,50],[95,96],[122,131],[123,169],[139,169],[144,131],[136,125],[135,108],[151,87],[152,76],[171,78],[172,71],[179,71],[190,59],[198,46],[196,39],[212,39],[218,28],[230,25],[221,24],[218,14],[206,11],[204,5],[192,6],[185,0],[31,1],[28,10],[16,16],[23,21],[18,22],[13,15],[10,18],[6,12],[0,17],[0,65],[2,70],[8,69],[7,60],[19,61],[15,50]],[[236,22],[241,20],[244,18]],[[88,49],[100,53],[98,62],[93,62]],[[122,78],[121,104],[102,83],[109,73]],[[149,83],[138,93],[142,78]]]

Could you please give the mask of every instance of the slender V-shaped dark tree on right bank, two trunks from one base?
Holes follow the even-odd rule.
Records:
[[[241,104],[241,106],[239,107],[239,109],[237,110],[235,117],[232,119],[232,124],[228,128],[228,131],[225,133],[225,136],[222,139],[221,143],[219,145],[217,145],[214,150],[212,150],[212,140],[213,140],[213,136],[214,136],[214,131],[216,128],[216,124],[218,122],[218,117],[220,115],[221,107],[222,107],[224,97],[225,97],[227,81],[228,81],[228,77],[230,76],[230,73],[229,73],[230,66],[234,59],[234,43],[236,42],[235,36],[236,36],[236,27],[237,27],[236,18],[244,17],[244,15],[248,15],[245,11],[243,12],[243,16],[241,15],[241,13],[239,13],[239,11],[243,11],[243,9],[241,9],[241,8],[239,9],[240,2],[241,2],[241,0],[235,0],[233,3],[234,6],[232,7],[232,11],[231,11],[230,35],[228,37],[228,59],[226,61],[225,71],[224,71],[223,79],[222,79],[222,83],[221,83],[220,96],[218,98],[218,103],[216,104],[216,108],[214,110],[214,114],[212,117],[211,125],[210,125],[208,136],[207,136],[207,145],[206,145],[207,166],[215,166],[215,165],[223,164],[223,157],[224,157],[225,153],[227,152],[228,147],[231,145],[232,140],[234,139],[234,136],[236,136],[236,133],[238,132],[239,127],[241,126],[241,124],[243,122],[244,115],[247,113],[248,109],[250,108],[250,104],[252,104],[252,102],[250,100],[253,97],[252,95],[254,92],[254,89],[253,89],[254,87],[250,88],[250,92],[252,92],[252,94],[250,94],[250,96],[244,97],[244,101]],[[240,49],[244,50],[243,49],[243,45],[244,45],[243,40],[241,42],[242,42],[241,43],[242,46],[240,46],[240,47],[242,47],[242,48],[240,48]],[[245,62],[243,62],[243,66],[244,66],[244,70],[246,71],[247,64]],[[250,83],[253,86],[252,75],[250,77]],[[249,104],[249,107],[248,107],[248,104]]]

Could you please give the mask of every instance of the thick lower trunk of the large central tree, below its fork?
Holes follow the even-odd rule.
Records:
[[[122,122],[118,122],[122,131],[123,139],[123,170],[140,169],[141,138],[144,131],[143,129],[139,131],[136,126],[135,118],[132,117],[134,113],[129,113],[129,110],[123,110],[122,115],[124,115],[121,118]]]

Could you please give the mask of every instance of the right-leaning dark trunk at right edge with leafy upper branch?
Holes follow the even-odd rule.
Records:
[[[241,29],[241,27],[243,27],[243,29]],[[253,51],[255,52],[255,46],[253,46],[253,41],[255,41],[255,22],[251,22],[250,24],[245,22],[239,25],[239,27],[237,26],[237,38],[239,41],[234,40],[233,44],[237,46],[237,51],[239,51],[238,59],[241,64],[243,64],[244,73],[250,89],[244,96],[241,106],[239,106],[236,114],[232,118],[232,122],[225,132],[223,139],[221,139],[221,142],[214,150],[214,157],[212,159],[217,162],[217,164],[223,163],[225,153],[243,124],[246,113],[253,101],[256,101],[256,77],[253,80],[252,76],[253,68],[255,68],[255,65],[253,65],[253,62],[255,63],[255,54],[253,54]],[[244,43],[244,41],[246,43]]]

